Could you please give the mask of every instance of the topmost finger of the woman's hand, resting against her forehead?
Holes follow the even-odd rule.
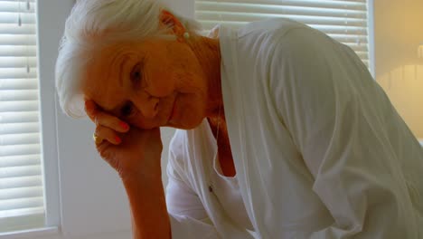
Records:
[[[129,125],[126,122],[99,109],[93,100],[85,101],[85,111],[87,112],[89,119],[91,119],[98,127],[107,127],[121,133],[125,133],[129,130]]]

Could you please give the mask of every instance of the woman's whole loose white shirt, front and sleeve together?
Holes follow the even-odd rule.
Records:
[[[220,40],[230,146],[256,238],[423,237],[423,150],[351,49],[284,19],[221,26]],[[251,238],[208,190],[206,137],[177,130],[171,143],[173,238]]]

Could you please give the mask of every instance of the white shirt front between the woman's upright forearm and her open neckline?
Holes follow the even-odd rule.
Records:
[[[217,148],[215,143],[208,143],[214,138],[205,124],[194,130],[176,130],[171,141],[166,204],[172,238],[219,238],[218,232],[235,239],[252,238],[209,190],[215,179],[213,157]]]

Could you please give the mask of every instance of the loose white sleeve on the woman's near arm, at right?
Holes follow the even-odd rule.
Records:
[[[417,238],[407,186],[383,129],[389,115],[381,90],[353,51],[333,41],[295,29],[278,36],[269,53],[278,117],[334,217],[310,238]]]

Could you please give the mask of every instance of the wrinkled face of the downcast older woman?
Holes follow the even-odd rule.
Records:
[[[94,56],[82,91],[141,129],[193,129],[205,117],[207,84],[193,51],[175,40],[116,43]]]

